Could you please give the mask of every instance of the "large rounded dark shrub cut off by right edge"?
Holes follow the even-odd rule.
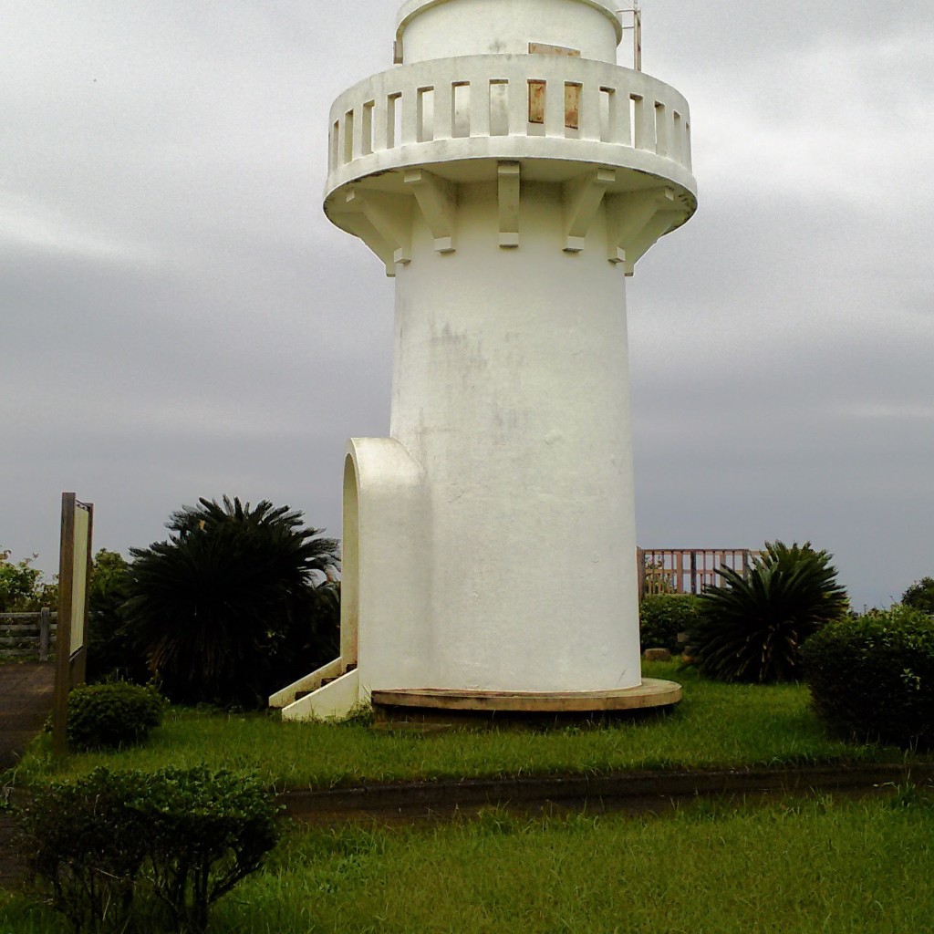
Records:
[[[893,606],[831,623],[801,649],[814,711],[861,742],[934,746],[934,621]]]

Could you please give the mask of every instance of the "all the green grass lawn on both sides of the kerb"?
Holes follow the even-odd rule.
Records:
[[[601,729],[426,734],[174,709],[148,743],[119,753],[53,763],[43,738],[15,780],[206,762],[282,789],[911,758],[829,738],[803,686],[721,685],[674,664],[645,674],[681,681],[685,700]],[[916,934],[934,918],[934,804],[912,789],[890,799],[701,801],[639,817],[488,808],[430,827],[290,828],[219,902],[210,930]],[[0,891],[2,934],[64,931],[49,910]]]

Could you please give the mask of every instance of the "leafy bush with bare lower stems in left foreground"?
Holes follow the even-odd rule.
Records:
[[[253,779],[101,768],[39,792],[20,847],[76,931],[123,931],[161,909],[169,929],[200,934],[211,905],[260,868],[276,836],[276,804]]]

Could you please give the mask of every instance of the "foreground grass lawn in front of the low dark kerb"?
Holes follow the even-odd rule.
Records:
[[[489,810],[429,829],[291,832],[219,902],[213,934],[917,934],[934,917],[934,806],[697,804],[668,817]],[[58,932],[0,896],[4,934]]]

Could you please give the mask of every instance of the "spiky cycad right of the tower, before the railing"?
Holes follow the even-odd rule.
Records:
[[[701,594],[687,654],[722,681],[761,684],[799,676],[800,645],[848,607],[831,555],[810,542],[766,542],[747,578],[729,568]]]

